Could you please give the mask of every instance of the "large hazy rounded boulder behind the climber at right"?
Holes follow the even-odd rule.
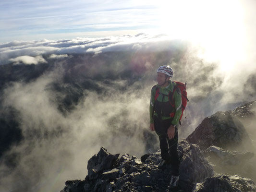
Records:
[[[186,139],[206,150],[215,145],[228,150],[246,150],[252,146],[244,125],[231,114],[231,111],[217,112],[205,118]]]

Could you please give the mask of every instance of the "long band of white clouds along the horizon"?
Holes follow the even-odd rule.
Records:
[[[83,54],[86,52],[100,53],[107,51],[127,51],[134,50],[163,50],[170,46],[171,40],[168,36],[150,36],[139,34],[137,36],[110,36],[101,38],[74,38],[63,40],[42,41],[14,41],[2,43],[0,45],[0,64],[7,64],[10,60],[17,57],[54,54],[54,55],[72,55]],[[165,45],[158,46],[158,41],[166,41]],[[169,42],[169,44],[168,44]]]

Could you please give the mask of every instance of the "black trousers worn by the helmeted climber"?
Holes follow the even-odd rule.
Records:
[[[159,120],[154,117],[155,130],[159,137],[161,157],[163,160],[171,162],[172,175],[178,176],[180,173],[180,157],[178,154],[178,131],[175,127],[174,137],[168,138],[167,130],[171,125],[171,120]],[[169,145],[169,146],[168,146]]]

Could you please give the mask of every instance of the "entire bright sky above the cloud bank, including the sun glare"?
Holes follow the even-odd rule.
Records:
[[[138,32],[213,41],[220,36],[244,35],[243,25],[248,22],[245,13],[253,3],[253,0],[247,0],[246,4],[240,0],[2,0],[0,42]]]

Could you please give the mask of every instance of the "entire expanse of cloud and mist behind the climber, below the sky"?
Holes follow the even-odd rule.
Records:
[[[0,191],[61,191],[66,180],[85,178],[100,146],[137,157],[155,152],[148,109],[160,65],[188,81],[180,139],[205,117],[256,100],[253,59],[223,71],[202,50],[146,34],[1,44],[1,114],[15,111],[22,139],[1,156]]]

